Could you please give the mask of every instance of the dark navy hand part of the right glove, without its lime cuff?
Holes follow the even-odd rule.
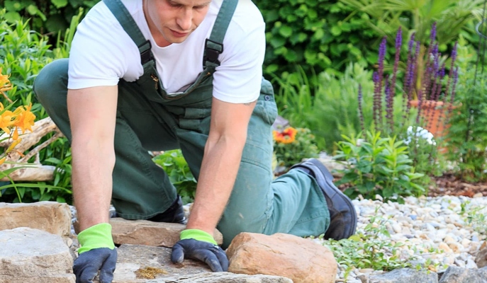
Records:
[[[197,241],[193,238],[177,242],[172,247],[171,260],[173,263],[181,263],[184,258],[206,262],[213,272],[228,271],[227,255],[213,243]]]

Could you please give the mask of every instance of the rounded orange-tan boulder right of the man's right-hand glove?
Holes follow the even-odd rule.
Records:
[[[328,248],[284,233],[240,233],[227,255],[228,271],[234,273],[277,275],[294,283],[331,283],[337,275],[337,262]]]

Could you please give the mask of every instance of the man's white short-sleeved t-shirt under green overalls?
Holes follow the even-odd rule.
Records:
[[[153,1],[153,0],[149,0]],[[196,80],[203,71],[203,51],[223,0],[213,0],[205,19],[184,42],[159,47],[142,10],[142,0],[122,0],[142,35],[152,45],[157,72],[169,93]],[[265,52],[264,20],[251,0],[238,1],[223,40],[221,64],[213,74],[213,97],[249,103],[259,97]],[[108,7],[100,1],[81,23],[69,54],[68,88],[116,86],[143,74],[140,52]]]

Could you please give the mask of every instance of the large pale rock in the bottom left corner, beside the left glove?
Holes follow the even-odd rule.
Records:
[[[60,236],[26,227],[0,231],[0,282],[74,283],[72,265]]]

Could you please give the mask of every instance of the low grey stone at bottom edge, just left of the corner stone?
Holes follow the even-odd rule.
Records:
[[[437,283],[438,275],[435,272],[413,270],[411,268],[400,268],[386,272],[381,275],[372,275],[370,283]]]

